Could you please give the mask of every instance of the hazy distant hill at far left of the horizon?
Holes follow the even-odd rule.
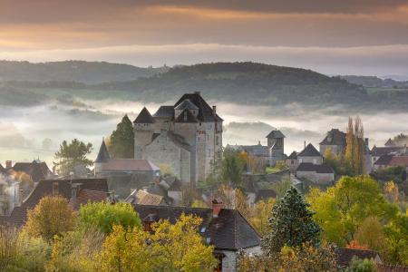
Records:
[[[28,63],[0,61],[0,81],[104,83],[135,80],[169,68],[140,68],[128,64],[65,61]]]

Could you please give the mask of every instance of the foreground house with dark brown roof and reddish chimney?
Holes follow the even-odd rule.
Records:
[[[238,252],[260,253],[260,237],[238,210],[223,209],[218,201],[213,201],[212,205],[212,209],[150,205],[134,205],[134,209],[145,230],[150,230],[151,224],[160,219],[168,219],[174,224],[183,213],[198,216],[202,219],[199,234],[215,247],[214,256],[219,260],[214,271],[237,271]]]

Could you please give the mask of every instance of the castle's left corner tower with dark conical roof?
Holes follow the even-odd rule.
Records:
[[[153,137],[154,119],[146,107],[141,110],[133,121],[134,129],[134,159],[144,159],[144,147],[151,143]]]

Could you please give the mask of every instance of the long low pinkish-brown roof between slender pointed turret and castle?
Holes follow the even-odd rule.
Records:
[[[102,165],[104,171],[155,171],[160,170],[150,160],[114,159]]]

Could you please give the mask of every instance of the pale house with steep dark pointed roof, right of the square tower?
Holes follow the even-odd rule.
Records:
[[[323,156],[309,143],[297,154],[296,178],[327,185],[335,181],[335,171],[324,163]]]

